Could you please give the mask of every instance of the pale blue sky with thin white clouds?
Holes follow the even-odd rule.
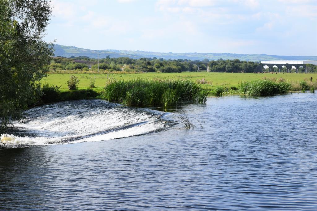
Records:
[[[54,1],[45,40],[93,50],[317,55],[317,1]]]

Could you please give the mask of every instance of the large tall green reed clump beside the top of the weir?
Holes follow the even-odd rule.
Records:
[[[128,106],[163,106],[179,101],[205,103],[209,91],[190,80],[113,80],[105,86],[104,96],[109,102]]]

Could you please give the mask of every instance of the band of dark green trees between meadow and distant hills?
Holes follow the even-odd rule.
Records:
[[[196,64],[192,64],[188,59],[163,59],[163,58],[140,58],[131,59],[129,57],[111,58],[110,54],[106,58],[99,60],[99,71],[105,72],[183,72],[183,71],[206,71],[207,66],[211,72],[255,72],[259,65],[258,62],[241,61],[239,59],[218,59],[209,61],[204,59],[194,60]],[[89,58],[87,56],[71,56],[69,58],[57,56],[52,58],[48,71],[62,72],[65,70],[77,72],[89,72],[98,70],[98,59]],[[317,72],[317,66],[311,65],[310,72]],[[269,71],[266,69],[264,71]],[[276,70],[273,70],[276,71]],[[286,71],[287,69],[281,69]],[[299,70],[302,72],[303,70]]]

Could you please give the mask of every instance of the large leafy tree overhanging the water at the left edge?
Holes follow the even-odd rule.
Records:
[[[0,135],[41,95],[53,46],[42,40],[51,9],[47,0],[0,0]]]

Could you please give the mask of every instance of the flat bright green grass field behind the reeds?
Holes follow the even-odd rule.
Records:
[[[196,81],[197,79],[205,78],[209,84],[203,84],[202,87],[208,90],[214,90],[217,86],[239,86],[242,81],[250,81],[254,79],[266,78],[284,78],[286,81],[302,81],[313,77],[315,81],[317,74],[315,73],[277,73],[277,74],[254,74],[254,73],[218,73],[218,72],[181,72],[181,73],[137,73],[137,74],[49,74],[47,78],[43,78],[41,83],[55,84],[61,86],[61,91],[67,91],[67,81],[70,75],[75,75],[79,78],[79,89],[89,88],[91,78],[95,79],[95,91],[102,90],[106,82],[111,79],[130,80],[133,78],[160,78],[160,79],[190,79]]]

